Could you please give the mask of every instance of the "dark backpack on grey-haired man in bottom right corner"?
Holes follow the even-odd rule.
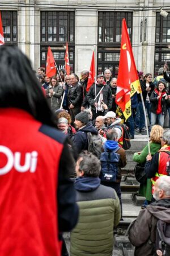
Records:
[[[170,224],[162,220],[156,225],[155,255],[170,255]]]

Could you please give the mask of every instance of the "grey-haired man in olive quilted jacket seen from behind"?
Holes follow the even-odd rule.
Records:
[[[75,170],[79,221],[71,232],[70,255],[111,256],[113,228],[121,217],[116,192],[100,185],[100,160],[92,153],[80,154]]]

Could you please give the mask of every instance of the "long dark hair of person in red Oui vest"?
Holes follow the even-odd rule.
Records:
[[[38,121],[56,126],[31,63],[18,47],[0,47],[0,70],[0,108],[23,109]]]

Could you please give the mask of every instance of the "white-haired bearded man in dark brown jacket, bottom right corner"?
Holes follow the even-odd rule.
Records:
[[[156,180],[154,197],[156,201],[139,212],[137,219],[130,225],[128,231],[129,240],[135,246],[135,256],[169,255],[163,253],[161,247],[156,250],[154,246],[157,244],[156,230],[158,221],[170,224],[169,176],[161,176]]]

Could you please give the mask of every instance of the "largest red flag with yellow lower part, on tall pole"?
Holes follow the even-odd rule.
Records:
[[[128,119],[131,115],[130,97],[135,92],[141,92],[141,85],[131,49],[126,20],[123,19],[116,103],[124,113],[125,119]]]

